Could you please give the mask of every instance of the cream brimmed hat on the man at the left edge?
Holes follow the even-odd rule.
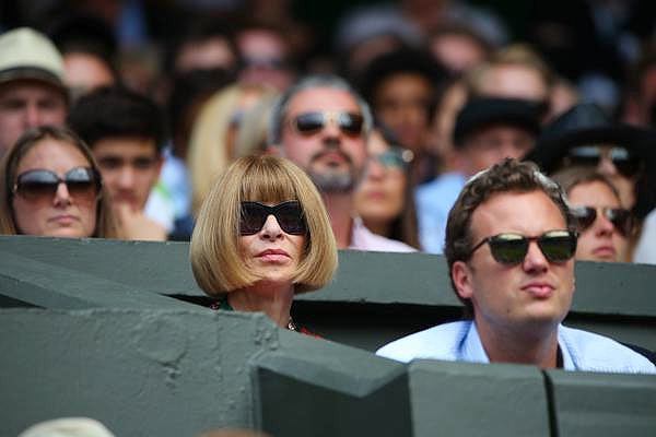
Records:
[[[66,92],[63,59],[55,44],[30,27],[0,35],[0,83],[34,79]]]

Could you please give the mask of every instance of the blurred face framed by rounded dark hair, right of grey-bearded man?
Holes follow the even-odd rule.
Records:
[[[393,74],[374,92],[374,111],[414,152],[425,145],[433,85],[415,73]]]

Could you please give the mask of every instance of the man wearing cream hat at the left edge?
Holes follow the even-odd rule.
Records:
[[[63,71],[61,55],[43,34],[20,27],[0,35],[0,156],[27,129],[65,123]]]

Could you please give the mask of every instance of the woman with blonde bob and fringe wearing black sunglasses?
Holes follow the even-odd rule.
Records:
[[[337,269],[337,245],[321,197],[284,158],[235,161],[206,199],[194,235],[194,276],[221,309],[291,319],[294,293],[321,288]],[[222,296],[223,295],[223,296]]]

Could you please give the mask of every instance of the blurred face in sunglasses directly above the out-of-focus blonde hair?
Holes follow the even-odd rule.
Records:
[[[278,34],[268,29],[246,29],[237,36],[244,68],[239,76],[246,84],[270,85],[286,90],[294,80],[289,66],[289,47]]]

